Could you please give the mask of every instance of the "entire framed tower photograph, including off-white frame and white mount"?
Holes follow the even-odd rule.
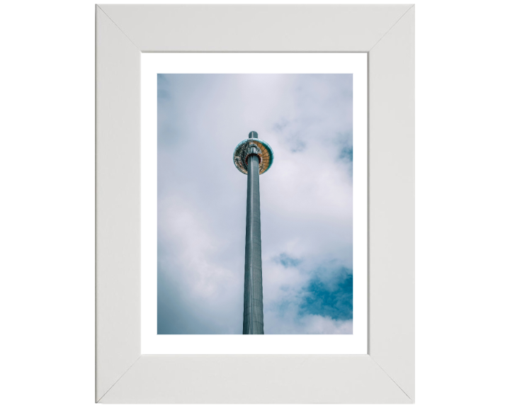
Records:
[[[96,401],[414,402],[414,6],[96,6]]]

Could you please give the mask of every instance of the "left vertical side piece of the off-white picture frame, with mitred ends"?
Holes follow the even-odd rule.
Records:
[[[140,357],[140,51],[96,6],[96,401]]]

